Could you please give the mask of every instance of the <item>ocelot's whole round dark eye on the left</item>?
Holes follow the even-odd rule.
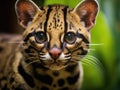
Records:
[[[35,33],[35,40],[38,43],[43,43],[47,40],[46,34],[44,32],[36,32]]]

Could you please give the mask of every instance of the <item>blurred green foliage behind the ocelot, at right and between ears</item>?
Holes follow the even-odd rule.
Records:
[[[63,4],[75,7],[81,0],[35,0],[41,6]],[[91,49],[82,60],[82,90],[120,89],[120,0],[98,0],[100,12],[91,30]]]

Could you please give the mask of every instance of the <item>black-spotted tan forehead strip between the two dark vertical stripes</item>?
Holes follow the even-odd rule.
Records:
[[[50,11],[51,10],[51,11]],[[64,16],[64,11],[65,7],[62,6],[52,6],[49,7],[49,15],[46,17],[49,17],[48,21],[47,21],[47,31],[50,32],[51,30],[54,31],[64,31],[65,28],[63,28],[65,26],[65,17]]]

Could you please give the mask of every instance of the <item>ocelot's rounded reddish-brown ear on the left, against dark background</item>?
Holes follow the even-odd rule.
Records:
[[[17,0],[15,10],[19,24],[26,28],[33,20],[39,8],[31,0]]]

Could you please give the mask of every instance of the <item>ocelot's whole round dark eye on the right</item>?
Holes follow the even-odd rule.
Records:
[[[75,33],[73,33],[73,32],[66,33],[64,36],[64,40],[65,40],[65,42],[67,42],[69,44],[73,44],[76,41]]]

